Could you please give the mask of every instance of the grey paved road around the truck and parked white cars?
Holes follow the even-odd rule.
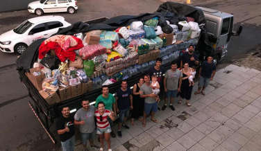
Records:
[[[153,12],[161,3],[162,1],[155,0],[133,0],[124,2],[123,6],[119,0],[102,0],[100,3],[79,0],[79,10],[75,15],[67,13],[52,13],[50,15],[61,15],[67,21],[74,23],[103,16],[113,17],[115,15],[138,15],[142,12]],[[199,0],[192,4],[233,13],[235,22],[244,26],[242,35],[231,39],[230,51],[226,60],[232,60],[240,54],[244,55],[260,44],[261,14],[258,12],[261,6],[260,1]],[[0,13],[0,34],[15,28],[19,23],[31,17],[36,16],[29,14],[26,10]],[[15,71],[16,58],[17,55],[13,53],[0,52],[0,150],[57,149],[58,146],[51,143],[28,106],[27,90],[19,82],[19,76]],[[53,132],[55,133],[54,130]]]

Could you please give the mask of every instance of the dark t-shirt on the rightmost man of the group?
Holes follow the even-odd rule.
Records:
[[[201,64],[201,68],[201,77],[211,78],[212,72],[216,70],[216,64],[214,64],[214,62],[208,63],[208,61],[204,61]]]

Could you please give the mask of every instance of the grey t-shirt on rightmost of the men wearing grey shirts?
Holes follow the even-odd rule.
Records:
[[[169,69],[165,73],[164,77],[167,78],[167,81],[166,81],[167,89],[176,90],[176,89],[178,89],[178,80],[179,80],[179,78],[182,78],[183,75],[182,75],[181,71],[178,69],[176,69],[176,71]]]

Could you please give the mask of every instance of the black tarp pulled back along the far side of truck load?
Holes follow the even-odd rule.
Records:
[[[153,13],[143,13],[137,16],[134,15],[121,15],[117,17],[112,17],[106,21],[103,21],[100,24],[86,24],[84,22],[76,22],[75,24],[67,27],[67,28],[60,28],[56,35],[74,35],[75,33],[86,33],[90,30],[115,30],[121,26],[128,26],[133,21],[145,21],[151,19],[153,17],[165,17],[165,19],[171,19],[178,17],[178,15],[185,15],[186,17],[192,17],[195,21],[202,26],[201,28],[201,41],[208,44],[206,40],[208,40],[207,33],[205,32],[205,16],[203,11],[199,8],[194,8],[192,6],[187,6],[183,3],[175,3],[175,2],[165,2],[159,6],[158,10]],[[43,39],[37,40],[33,44],[31,44],[26,51],[19,57],[17,60],[17,64],[20,68],[23,69],[30,69],[32,67],[32,62],[37,48],[40,46],[40,42]],[[38,45],[39,44],[39,45]],[[33,45],[33,46],[32,46]]]

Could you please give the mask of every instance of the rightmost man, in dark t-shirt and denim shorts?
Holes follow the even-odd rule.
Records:
[[[212,61],[213,57],[208,56],[208,61],[202,62],[199,69],[199,89],[195,92],[195,95],[199,94],[202,88],[201,94],[205,96],[205,87],[208,87],[210,80],[213,80],[216,73],[216,64]]]

